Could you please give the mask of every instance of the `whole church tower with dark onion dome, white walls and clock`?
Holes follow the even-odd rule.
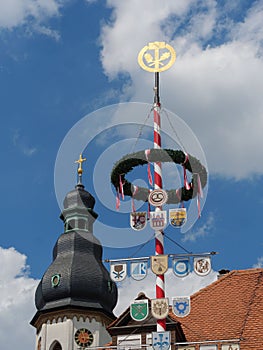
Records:
[[[110,341],[106,327],[115,316],[117,288],[102,264],[102,246],[93,235],[94,197],[78,183],[64,199],[64,233],[53,249],[53,262],[35,294],[36,350],[79,350]]]

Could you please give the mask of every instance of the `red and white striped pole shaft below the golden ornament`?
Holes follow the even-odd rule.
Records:
[[[160,98],[159,98],[159,72],[155,73],[155,96],[154,96],[154,148],[160,149],[161,143],[161,116],[160,116]],[[154,189],[162,189],[162,163],[154,163]],[[155,212],[162,210],[162,207],[156,207]],[[155,231],[155,255],[164,254],[163,231]],[[156,298],[165,297],[164,274],[156,276]],[[157,332],[166,330],[166,319],[157,320]]]

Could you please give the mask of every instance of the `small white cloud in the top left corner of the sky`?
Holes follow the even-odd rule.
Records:
[[[27,23],[41,23],[58,16],[61,0],[2,0],[0,29],[13,29]]]

